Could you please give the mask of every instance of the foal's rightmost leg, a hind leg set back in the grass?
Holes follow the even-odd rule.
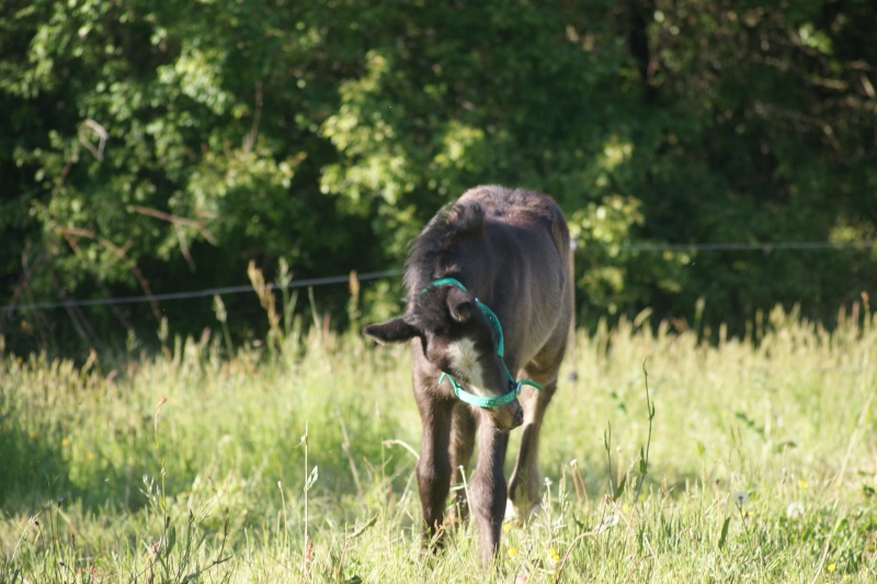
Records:
[[[542,473],[539,472],[539,433],[545,410],[557,389],[557,377],[545,385],[543,391],[527,388],[521,394],[524,408],[524,426],[521,434],[521,450],[509,480],[506,520],[525,522],[538,511]]]

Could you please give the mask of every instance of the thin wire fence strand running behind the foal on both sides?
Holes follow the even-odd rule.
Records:
[[[778,242],[727,242],[727,243],[620,243],[620,244],[589,244],[576,248],[577,252],[582,251],[627,251],[642,253],[663,253],[663,252],[764,252],[773,251],[840,251],[840,250],[868,250],[877,247],[877,241],[778,241]],[[307,288],[315,286],[327,286],[335,284],[346,284],[355,277],[360,282],[396,277],[402,274],[402,268],[389,268],[378,272],[366,272],[362,274],[344,274],[338,276],[324,276],[315,278],[294,279],[285,285],[286,288]],[[280,284],[266,284],[263,289],[280,289],[284,286]],[[227,296],[234,294],[246,294],[254,291],[252,285],[243,284],[239,286],[225,286],[219,288],[207,288],[202,290],[187,290],[153,295],[123,296],[116,298],[92,298],[92,299],[69,299],[52,300],[45,302],[13,304],[0,306],[0,313],[13,312],[16,310],[50,310],[56,308],[79,308],[109,305],[133,305],[141,302],[156,302],[167,300],[184,300],[190,298],[204,298],[208,296]]]

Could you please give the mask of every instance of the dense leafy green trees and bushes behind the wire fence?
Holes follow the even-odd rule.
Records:
[[[5,0],[0,305],[398,267],[491,182],[566,210],[586,325],[648,307],[747,334],[777,302],[831,325],[877,288],[877,247],[850,245],[877,239],[877,7],[772,7]],[[752,242],[836,247],[691,247]],[[316,296],[350,324],[346,286]],[[399,296],[363,284],[357,309]],[[254,295],[225,301],[232,333],[262,327]],[[7,309],[0,334],[79,351],[162,318],[217,327],[208,297]]]

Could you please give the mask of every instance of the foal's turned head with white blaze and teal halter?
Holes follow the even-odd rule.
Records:
[[[492,317],[496,322],[491,322],[488,313],[492,316],[458,283],[431,286],[412,298],[405,316],[371,324],[365,334],[381,344],[419,340],[414,351],[422,351],[443,371],[436,382],[464,401],[481,405],[499,430],[510,431],[523,423],[523,411],[502,359],[499,321]]]

